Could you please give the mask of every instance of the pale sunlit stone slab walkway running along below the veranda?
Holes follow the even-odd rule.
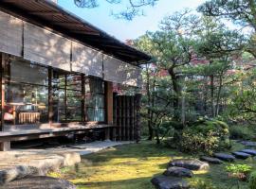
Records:
[[[131,142],[93,142],[46,149],[11,149],[0,152],[0,185],[30,176],[44,176],[48,171],[81,162],[81,155]]]

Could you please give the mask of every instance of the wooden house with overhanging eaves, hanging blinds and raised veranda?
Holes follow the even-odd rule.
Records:
[[[150,59],[52,1],[2,0],[1,150],[99,129],[138,140],[140,65]]]

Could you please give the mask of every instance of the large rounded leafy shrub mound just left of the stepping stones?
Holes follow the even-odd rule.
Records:
[[[229,126],[218,120],[198,121],[183,130],[180,149],[187,153],[207,153],[230,147]]]

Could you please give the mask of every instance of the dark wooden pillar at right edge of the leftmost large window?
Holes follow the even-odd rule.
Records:
[[[53,123],[53,90],[52,90],[52,77],[53,70],[51,67],[48,68],[48,122],[51,126]]]

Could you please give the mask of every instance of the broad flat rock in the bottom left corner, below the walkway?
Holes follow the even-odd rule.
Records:
[[[76,186],[67,180],[40,176],[14,180],[0,189],[76,189]]]

